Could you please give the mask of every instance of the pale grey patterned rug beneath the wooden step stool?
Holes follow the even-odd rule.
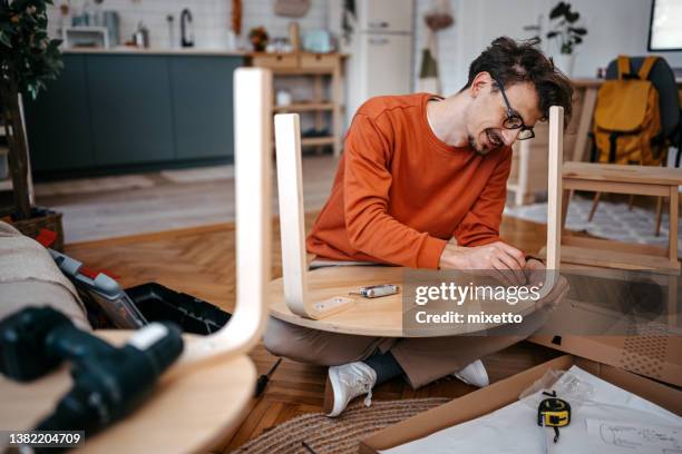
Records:
[[[627,208],[626,203],[600,201],[592,223],[587,221],[592,198],[574,196],[568,205],[566,228],[586,231],[601,238],[668,247],[668,213],[663,213],[661,235],[655,236],[655,213],[641,207]],[[547,204],[505,208],[505,215],[547,224]],[[682,230],[678,231],[678,254],[682,254]]]

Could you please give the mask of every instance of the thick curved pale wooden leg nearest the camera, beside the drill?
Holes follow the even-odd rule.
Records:
[[[186,344],[176,371],[245,354],[265,328],[272,237],[271,103],[270,70],[234,72],[236,307],[222,329]]]

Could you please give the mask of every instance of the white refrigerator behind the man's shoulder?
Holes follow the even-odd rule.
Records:
[[[374,96],[412,91],[413,0],[355,0],[348,60],[347,126]]]

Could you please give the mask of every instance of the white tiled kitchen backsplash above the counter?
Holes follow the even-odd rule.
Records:
[[[49,30],[57,34],[59,24],[59,6],[70,4],[70,10],[79,14],[86,0],[55,0],[49,7]],[[94,0],[88,0],[94,6]],[[244,0],[242,2],[242,36],[238,43],[245,46],[249,30],[264,26],[271,37],[286,37],[289,23],[294,19],[274,14],[274,0]],[[114,10],[119,14],[121,41],[130,40],[137,24],[142,21],[149,29],[152,48],[168,48],[170,46],[166,17],[174,17],[175,47],[179,47],[181,11],[188,8],[192,12],[195,46],[199,48],[224,49],[228,43],[228,30],[232,23],[231,0],[104,0],[103,10]],[[301,32],[323,29],[327,26],[327,0],[311,0],[311,7],[304,18],[295,19]],[[123,42],[121,42],[123,43]]]

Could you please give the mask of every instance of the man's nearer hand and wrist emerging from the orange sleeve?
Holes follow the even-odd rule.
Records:
[[[457,246],[452,238],[440,255],[441,269],[496,269],[508,285],[526,284],[524,253],[503,241],[485,246]]]

